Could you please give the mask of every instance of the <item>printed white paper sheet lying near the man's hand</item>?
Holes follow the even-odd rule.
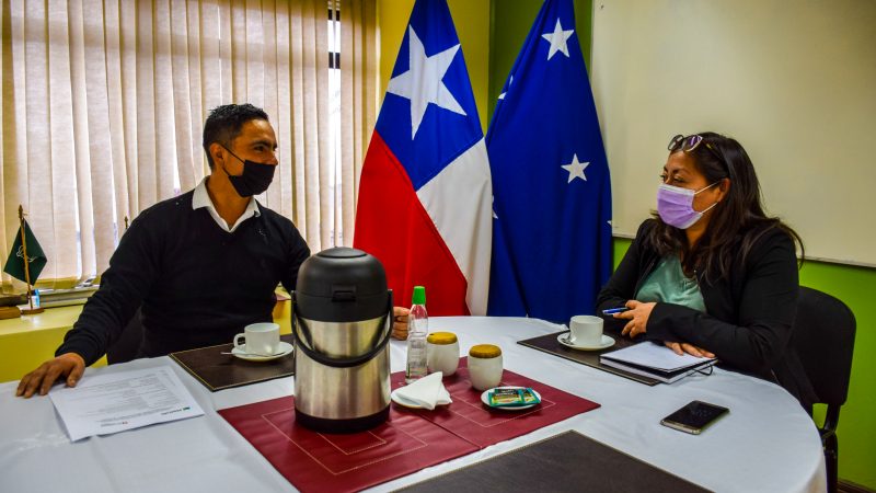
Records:
[[[49,397],[72,442],[204,414],[168,366],[89,376]]]

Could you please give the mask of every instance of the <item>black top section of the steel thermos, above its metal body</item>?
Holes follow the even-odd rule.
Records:
[[[298,313],[321,322],[376,319],[389,309],[387,273],[374,256],[337,246],[301,264],[295,300]]]

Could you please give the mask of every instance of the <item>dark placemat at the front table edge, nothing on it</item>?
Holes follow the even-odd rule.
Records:
[[[402,491],[708,491],[575,431],[466,466]]]

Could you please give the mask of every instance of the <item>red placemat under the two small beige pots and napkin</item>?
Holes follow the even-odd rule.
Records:
[[[392,389],[404,383],[404,372],[393,374]],[[577,395],[566,393],[551,386],[538,382],[514,371],[505,370],[503,386],[531,387],[541,395],[541,404],[527,410],[508,411],[491,409],[481,402],[481,391],[472,388],[469,381],[468,358],[460,358],[459,369],[443,379],[453,403],[441,405],[435,411],[412,410],[392,404],[400,412],[419,414],[424,419],[461,436],[479,448],[498,444],[526,435],[567,417],[586,413],[599,404]]]

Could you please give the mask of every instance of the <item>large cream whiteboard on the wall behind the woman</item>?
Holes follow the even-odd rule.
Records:
[[[593,2],[614,232],[655,207],[666,145],[738,139],[807,257],[876,265],[876,1]]]

